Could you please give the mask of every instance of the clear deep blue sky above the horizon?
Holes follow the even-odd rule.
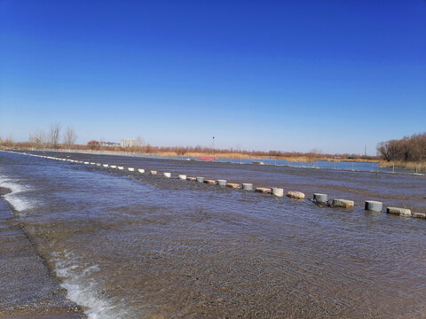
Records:
[[[426,2],[0,0],[0,136],[375,153],[426,131]]]

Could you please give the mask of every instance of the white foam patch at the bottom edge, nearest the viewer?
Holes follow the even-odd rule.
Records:
[[[64,279],[61,286],[67,290],[67,298],[87,307],[84,313],[89,319],[127,318],[127,310],[123,308],[124,300],[108,300],[99,293],[101,287],[91,276],[101,271],[98,265],[82,270],[73,253],[65,253],[65,259],[61,259],[59,254],[53,255],[55,272]]]

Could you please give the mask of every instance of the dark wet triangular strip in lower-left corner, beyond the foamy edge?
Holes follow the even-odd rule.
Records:
[[[0,318],[86,318],[67,300],[66,291],[37,253],[28,235],[13,221],[0,188]]]

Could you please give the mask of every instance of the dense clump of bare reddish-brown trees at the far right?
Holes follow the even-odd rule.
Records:
[[[388,161],[426,161],[426,132],[379,143],[377,153]]]

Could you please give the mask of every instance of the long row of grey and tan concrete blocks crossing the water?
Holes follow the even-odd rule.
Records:
[[[67,161],[79,163],[79,164],[96,165],[98,167],[103,166],[103,167],[117,168],[117,169],[120,169],[120,170],[124,169],[124,167],[122,167],[122,166],[94,163],[94,162],[83,161],[83,160],[60,159],[60,158],[55,158],[55,157],[51,157],[51,156],[34,155],[34,154],[28,154],[28,155],[32,155],[32,156],[36,156],[36,157],[42,157],[42,158],[46,158],[46,159],[67,160]],[[135,171],[134,167],[127,167],[127,169],[130,172]],[[138,168],[138,172],[141,173],[141,174],[145,174],[145,169],[144,168]],[[156,170],[150,170],[149,174],[150,175],[157,175],[157,171]],[[165,172],[165,173],[163,173],[163,176],[170,178],[171,173]],[[219,186],[229,187],[229,188],[234,189],[234,190],[235,189],[242,189],[242,190],[245,190],[245,191],[253,191],[253,184],[252,183],[241,183],[241,184],[239,184],[239,183],[227,183],[226,180],[206,180],[206,179],[204,179],[204,177],[200,177],[200,176],[199,177],[187,177],[186,175],[177,175],[177,177],[181,180],[188,180],[188,181],[193,181],[193,182],[198,182],[198,183],[207,183],[207,184],[210,184],[210,185],[216,184],[216,185],[219,185]],[[272,194],[273,196],[276,196],[276,197],[283,197],[284,196],[284,190],[281,189],[281,188],[257,187],[256,189],[254,189],[254,191],[260,192],[260,193],[263,193],[263,194]],[[300,191],[288,191],[287,196],[288,196],[288,198],[296,198],[296,199],[304,199],[305,198],[304,193],[300,192]],[[328,200],[327,194],[321,194],[321,193],[314,193],[312,201],[316,204],[319,204],[319,205],[327,205],[327,206],[337,207],[337,208],[351,209],[354,206],[353,200],[342,199],[342,198],[332,198],[332,199]],[[375,200],[366,200],[364,208],[367,211],[382,212],[383,211],[383,203],[379,202],[379,201],[375,201]],[[412,214],[411,210],[407,209],[407,208],[387,207],[386,213],[396,214],[398,216],[404,216],[404,217],[414,217],[414,218],[426,219],[426,214],[424,214],[424,213],[413,213]]]

